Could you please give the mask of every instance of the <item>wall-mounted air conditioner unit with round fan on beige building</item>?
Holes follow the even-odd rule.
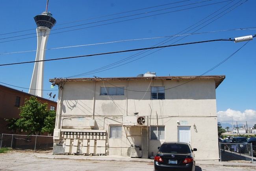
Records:
[[[147,116],[124,116],[123,126],[147,126]]]

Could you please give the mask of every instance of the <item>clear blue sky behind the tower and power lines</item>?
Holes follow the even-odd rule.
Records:
[[[8,0],[1,6],[0,64],[34,61],[37,38],[33,17],[46,10],[46,0]],[[50,0],[48,11],[57,23],[50,32],[45,59],[255,35],[255,6],[255,0]],[[218,121],[231,123],[233,117],[234,122],[247,121],[252,126],[256,124],[255,39],[48,61],[44,97],[50,92],[58,94],[57,88],[50,89],[49,79],[54,77],[207,72],[205,75],[226,75],[216,90]],[[28,92],[33,66],[0,66],[0,84]]]

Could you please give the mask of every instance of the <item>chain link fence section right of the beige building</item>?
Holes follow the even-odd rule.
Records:
[[[251,143],[219,143],[221,162],[253,163]]]

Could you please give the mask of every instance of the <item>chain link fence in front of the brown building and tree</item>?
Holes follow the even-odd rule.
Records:
[[[52,136],[2,134],[1,138],[0,148],[48,151],[53,147]]]

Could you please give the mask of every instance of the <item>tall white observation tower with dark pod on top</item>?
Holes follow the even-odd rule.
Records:
[[[47,12],[47,7],[46,12],[35,16],[34,19],[35,23],[37,24],[37,53],[35,57],[36,62],[30,83],[29,94],[43,97],[45,49],[50,31],[54,24],[56,24],[56,20],[52,17],[50,12]]]

